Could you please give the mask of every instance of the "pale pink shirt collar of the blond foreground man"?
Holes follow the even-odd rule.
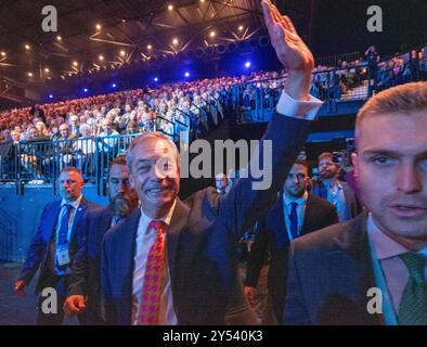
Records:
[[[376,224],[372,214],[367,217],[367,233],[375,247],[375,254],[378,260],[393,258],[403,253],[410,252],[406,247],[386,235]],[[425,247],[426,249],[427,247]]]

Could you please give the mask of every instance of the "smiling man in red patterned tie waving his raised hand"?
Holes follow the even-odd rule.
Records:
[[[236,242],[276,198],[321,102],[308,91],[313,56],[290,20],[263,1],[267,27],[288,69],[277,113],[259,145],[271,184],[253,189],[253,169],[225,195],[214,188],[178,198],[178,150],[161,133],[137,138],[128,166],[141,209],[105,234],[101,288],[112,324],[224,324],[236,278]],[[271,156],[264,147],[271,144]],[[268,163],[271,158],[271,163]]]

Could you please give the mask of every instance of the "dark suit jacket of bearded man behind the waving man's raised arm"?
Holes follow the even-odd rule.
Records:
[[[337,222],[338,216],[335,206],[323,198],[309,194],[301,235]],[[273,208],[260,221],[257,232],[248,257],[245,284],[257,286],[262,265],[266,262],[266,255],[270,254],[268,288],[272,295],[277,321],[281,322],[286,297],[287,258],[290,245],[284,216],[283,192],[280,194]]]

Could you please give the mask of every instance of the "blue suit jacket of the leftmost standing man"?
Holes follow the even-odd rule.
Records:
[[[40,277],[35,291],[36,295],[38,295],[47,285],[49,286],[49,280],[52,278],[47,260],[49,259],[50,244],[55,232],[57,218],[61,211],[61,202],[62,201],[59,200],[46,205],[39,227],[33,239],[31,245],[29,246],[24,268],[18,277],[18,280],[29,283],[37,270],[40,268]],[[81,233],[78,232],[81,228],[82,218],[85,214],[92,208],[96,208],[96,205],[83,197],[79,207],[75,211],[76,215],[74,217],[69,244],[69,257],[72,265],[76,250],[83,244],[83,237],[81,237]]]

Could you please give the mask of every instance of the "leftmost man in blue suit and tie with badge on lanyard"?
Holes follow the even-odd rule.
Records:
[[[77,168],[64,168],[59,180],[61,200],[44,207],[24,268],[14,286],[18,296],[25,295],[25,286],[40,269],[36,285],[36,295],[41,294],[37,314],[39,325],[60,325],[63,321],[61,308],[66,298],[74,256],[85,241],[81,221],[89,210],[96,207],[81,194],[85,183]],[[56,291],[56,312],[46,311],[43,300],[47,298],[42,296],[42,292],[48,287]]]

